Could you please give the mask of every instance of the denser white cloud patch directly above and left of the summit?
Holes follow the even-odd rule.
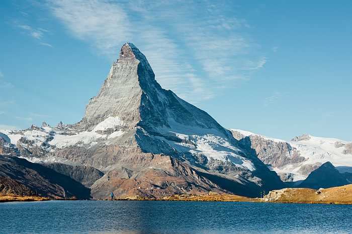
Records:
[[[55,17],[77,38],[94,43],[100,52],[112,55],[131,38],[133,28],[120,5],[108,1],[48,1]]]

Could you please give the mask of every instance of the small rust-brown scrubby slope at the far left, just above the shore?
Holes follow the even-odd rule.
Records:
[[[36,195],[36,192],[30,189],[29,187],[7,176],[0,176],[0,192],[12,193],[22,196]]]

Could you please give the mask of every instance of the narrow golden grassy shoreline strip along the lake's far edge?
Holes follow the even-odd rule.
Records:
[[[49,198],[41,196],[22,196],[13,193],[0,192],[0,202],[11,201],[46,201],[46,200],[111,200],[103,199],[77,199]],[[297,203],[297,204],[352,204],[352,184],[331,188],[283,188],[272,190],[262,198],[251,198],[234,194],[218,194],[209,192],[203,194],[173,194],[163,198],[149,198],[139,195],[116,197],[113,200],[155,200],[155,201],[235,201],[235,202],[260,202],[260,203]]]

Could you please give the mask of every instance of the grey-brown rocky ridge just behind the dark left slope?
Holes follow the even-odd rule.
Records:
[[[91,166],[72,166],[63,163],[45,163],[45,167],[51,168],[57,173],[66,175],[75,181],[90,187],[95,181],[103,177],[104,173]]]

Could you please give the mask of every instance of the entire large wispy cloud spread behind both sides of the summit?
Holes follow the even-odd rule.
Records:
[[[250,55],[257,45],[240,33],[250,26],[223,14],[226,4],[47,0],[47,6],[72,35],[112,60],[123,43],[133,42],[161,86],[191,102],[213,98],[216,89],[248,79],[267,61]]]

